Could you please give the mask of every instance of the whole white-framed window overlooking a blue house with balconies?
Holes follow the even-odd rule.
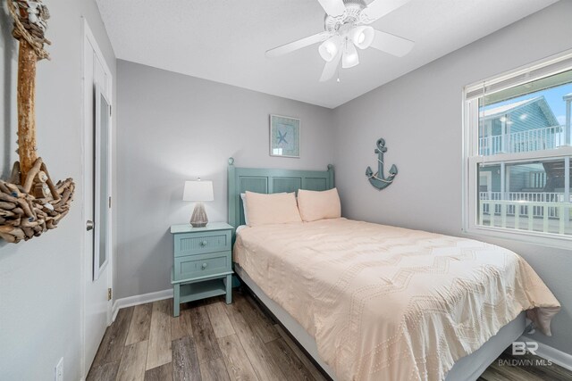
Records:
[[[572,54],[465,88],[471,233],[572,240]]]

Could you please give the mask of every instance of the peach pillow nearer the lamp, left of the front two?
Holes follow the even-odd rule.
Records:
[[[294,193],[265,195],[247,191],[246,200],[248,226],[302,221]]]

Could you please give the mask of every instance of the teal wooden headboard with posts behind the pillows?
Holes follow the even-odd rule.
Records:
[[[333,166],[328,170],[271,170],[237,168],[229,159],[229,224],[234,228],[244,225],[244,209],[240,194],[298,192],[299,189],[327,190],[333,188]]]

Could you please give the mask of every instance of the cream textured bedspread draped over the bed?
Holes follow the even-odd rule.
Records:
[[[528,311],[559,302],[516,253],[349,219],[240,230],[234,261],[314,337],[341,380],[440,380]]]

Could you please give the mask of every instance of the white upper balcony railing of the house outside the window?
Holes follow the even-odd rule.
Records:
[[[564,126],[528,129],[512,134],[479,138],[479,154],[523,153],[549,150],[564,145]]]

